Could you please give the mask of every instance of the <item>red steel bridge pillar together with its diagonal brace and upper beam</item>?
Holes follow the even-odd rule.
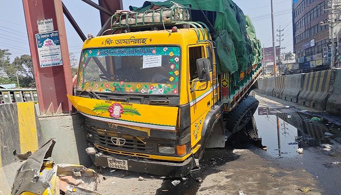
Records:
[[[82,1],[98,9],[100,12],[102,29],[98,35],[101,35],[106,29],[110,28],[110,18],[114,12],[123,9],[122,0],[98,0],[98,4],[92,0]],[[66,95],[73,94],[73,82],[63,13],[83,41],[86,39],[86,36],[61,0],[22,0],[22,3],[36,79],[40,113],[42,115],[71,113],[73,109],[72,104]],[[51,19],[52,26],[48,24],[45,26],[40,25],[39,28],[39,21],[40,24],[42,21],[47,21],[47,23],[51,24]],[[43,31],[43,28],[46,31]],[[51,51],[50,53],[41,51],[41,47],[38,46],[39,39],[37,36],[39,35],[37,34],[42,33],[41,31],[47,34],[51,33],[51,31],[55,32],[53,35],[56,35],[57,31],[57,42],[60,45],[60,49],[58,50],[57,48],[56,50],[59,57],[61,56],[62,63],[57,65],[50,64],[49,66],[41,65],[44,56],[54,55]]]

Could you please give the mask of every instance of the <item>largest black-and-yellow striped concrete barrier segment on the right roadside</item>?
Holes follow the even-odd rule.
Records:
[[[299,95],[299,104],[321,111],[325,110],[330,96],[331,81],[331,70],[305,74],[303,89]]]

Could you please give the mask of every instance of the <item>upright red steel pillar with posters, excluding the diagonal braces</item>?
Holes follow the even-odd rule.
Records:
[[[22,3],[36,79],[40,113],[41,115],[70,113],[72,104],[66,95],[73,94],[73,83],[62,2],[61,0],[22,0]],[[44,59],[42,55],[53,55],[53,51],[48,53],[40,52],[39,56],[36,38],[36,35],[39,34],[38,21],[50,19],[52,19],[53,26],[48,27],[46,33],[57,31],[60,50],[56,52],[59,54],[59,57],[61,54],[62,62],[58,65],[41,67],[41,61],[47,59]],[[40,30],[40,32],[44,31]],[[54,39],[57,37],[55,35],[57,34],[53,35]],[[51,44],[56,44],[56,42]]]

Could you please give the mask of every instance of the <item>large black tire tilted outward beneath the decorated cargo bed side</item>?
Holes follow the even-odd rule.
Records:
[[[245,97],[236,108],[227,114],[226,129],[232,134],[242,130],[253,119],[258,104],[259,101],[256,98],[252,96]]]

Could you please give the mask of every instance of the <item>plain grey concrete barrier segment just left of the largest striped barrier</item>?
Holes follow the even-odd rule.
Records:
[[[304,74],[287,75],[282,99],[298,103],[298,97],[303,88]]]

